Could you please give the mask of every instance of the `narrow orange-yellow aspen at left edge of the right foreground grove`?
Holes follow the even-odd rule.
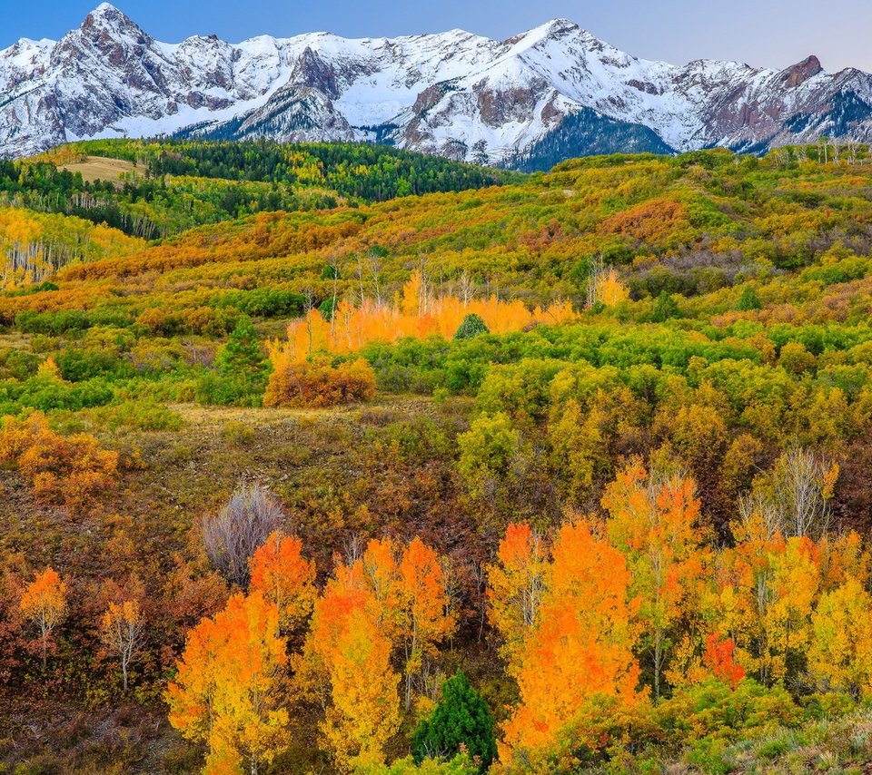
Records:
[[[520,668],[524,639],[539,621],[549,569],[541,535],[530,525],[509,525],[487,573],[488,621],[502,636],[500,655],[510,673]]]

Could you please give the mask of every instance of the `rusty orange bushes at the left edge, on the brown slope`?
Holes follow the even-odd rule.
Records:
[[[5,417],[0,427],[0,463],[13,463],[37,499],[68,508],[90,504],[115,486],[118,453],[101,449],[93,436],[64,437],[39,412],[25,420]]]

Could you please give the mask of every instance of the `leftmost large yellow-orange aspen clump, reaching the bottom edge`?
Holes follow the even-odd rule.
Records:
[[[188,634],[166,701],[173,727],[208,747],[207,773],[244,766],[256,775],[287,747],[287,643],[276,635],[278,620],[263,594],[234,594],[222,612]]]

